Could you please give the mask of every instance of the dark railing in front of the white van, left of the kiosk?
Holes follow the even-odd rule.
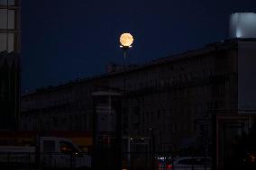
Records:
[[[0,153],[0,167],[5,170],[88,169],[91,157],[86,153]]]

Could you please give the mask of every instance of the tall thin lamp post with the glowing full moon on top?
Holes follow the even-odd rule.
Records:
[[[127,140],[128,140],[128,146],[127,146],[127,166],[130,168],[130,115],[129,111],[127,111],[128,104],[126,104],[126,51],[127,49],[132,48],[133,44],[133,36],[130,33],[123,33],[120,36],[120,48],[123,49],[123,58],[124,58],[124,72],[123,72],[123,115],[127,113]],[[123,124],[123,123],[121,123]],[[122,128],[122,127],[121,127]],[[123,138],[122,138],[123,139]]]

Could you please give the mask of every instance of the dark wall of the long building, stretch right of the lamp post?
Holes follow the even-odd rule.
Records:
[[[233,109],[235,58],[235,49],[214,49],[128,74],[133,135],[149,137],[154,129],[160,151],[203,142],[211,113]]]

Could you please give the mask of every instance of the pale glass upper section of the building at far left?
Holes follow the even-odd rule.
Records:
[[[0,0],[0,52],[19,53],[19,6],[17,0]]]

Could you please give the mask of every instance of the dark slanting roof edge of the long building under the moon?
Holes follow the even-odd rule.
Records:
[[[118,75],[123,74],[124,72],[133,72],[133,71],[137,71],[137,70],[140,70],[140,69],[145,69],[145,68],[148,68],[148,67],[154,67],[154,66],[159,66],[159,65],[166,64],[166,63],[169,63],[169,62],[175,62],[175,61],[185,59],[185,58],[193,58],[195,56],[201,56],[203,54],[207,54],[207,53],[217,51],[217,50],[235,49],[235,48],[237,48],[237,44],[238,44],[239,41],[256,41],[256,39],[237,39],[236,38],[236,39],[229,39],[229,40],[223,40],[223,41],[220,41],[220,42],[210,43],[210,44],[206,44],[205,47],[200,48],[200,49],[187,50],[185,52],[178,53],[178,54],[173,54],[173,55],[170,55],[170,56],[165,57],[165,58],[154,59],[154,60],[151,60],[151,62],[145,63],[143,65],[135,65],[133,67],[125,67],[125,69],[118,69],[114,72],[108,72],[108,73],[101,74],[101,75],[98,75],[98,76],[91,76],[91,77],[79,78],[79,79],[76,79],[76,80],[70,80],[69,82],[61,84],[61,85],[44,86],[44,87],[36,89],[33,92],[23,93],[23,96],[24,95],[31,95],[31,94],[49,92],[51,90],[65,88],[65,87],[68,87],[70,85],[77,85],[77,84],[80,84],[80,83],[85,83],[85,82],[93,81],[93,80],[104,78],[104,77],[118,76]]]

